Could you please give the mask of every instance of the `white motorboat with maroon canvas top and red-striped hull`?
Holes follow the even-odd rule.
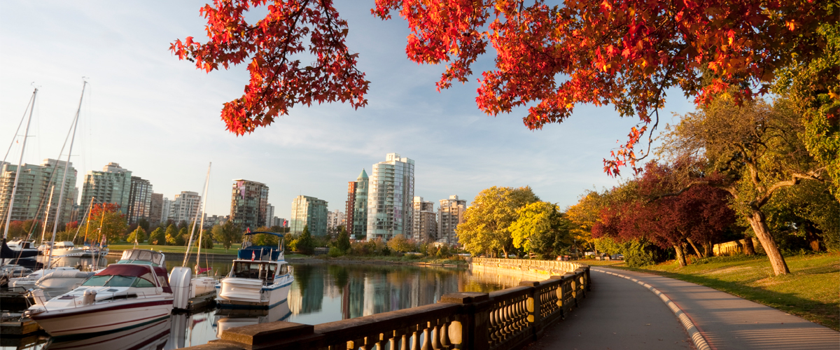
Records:
[[[108,265],[79,288],[51,300],[40,290],[33,293],[35,305],[26,316],[55,337],[154,323],[169,317],[173,300],[166,269],[152,264]]]

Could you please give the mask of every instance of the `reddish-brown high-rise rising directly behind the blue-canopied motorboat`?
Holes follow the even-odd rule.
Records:
[[[230,220],[240,229],[256,231],[265,226],[268,217],[268,186],[257,181],[234,180],[230,195]]]

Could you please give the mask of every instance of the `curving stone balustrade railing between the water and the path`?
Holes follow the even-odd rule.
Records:
[[[473,263],[478,264],[478,260],[474,259]],[[480,264],[494,264],[496,260],[507,259],[481,259]],[[575,269],[559,272],[543,281],[524,281],[517,287],[489,294],[453,293],[443,295],[437,304],[314,326],[276,321],[234,327],[223,331],[219,340],[191,348],[517,349],[541,337],[545,327],[564,319],[572,308],[580,305],[580,300],[585,298],[586,291],[591,288],[589,266],[551,261],[545,263],[552,263],[540,265],[551,268],[546,271],[559,271],[554,269],[559,266]]]

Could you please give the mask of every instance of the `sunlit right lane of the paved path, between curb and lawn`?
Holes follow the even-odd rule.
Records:
[[[604,267],[592,268],[593,289],[603,279],[597,277],[616,278],[599,271],[638,279],[667,295],[712,349],[840,349],[840,332],[769,306],[678,279]]]

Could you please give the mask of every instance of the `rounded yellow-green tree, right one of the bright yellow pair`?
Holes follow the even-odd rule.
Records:
[[[549,202],[535,201],[523,206],[517,211],[517,221],[510,226],[513,246],[549,259],[570,245],[568,222],[559,207]]]

